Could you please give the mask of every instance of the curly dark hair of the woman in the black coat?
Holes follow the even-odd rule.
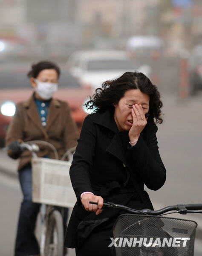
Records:
[[[150,117],[155,118],[156,123],[161,124],[163,122],[161,95],[150,79],[140,72],[126,72],[117,79],[105,81],[102,88],[95,90],[95,94],[90,97],[85,106],[88,110],[93,110],[93,113],[114,108],[113,105],[118,104],[119,100],[124,97],[124,93],[131,89],[139,89],[150,96]]]

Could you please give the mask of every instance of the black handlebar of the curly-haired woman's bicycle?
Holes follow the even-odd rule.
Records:
[[[90,204],[98,204],[97,202],[92,202],[89,201]],[[202,210],[202,204],[177,204],[173,206],[167,206],[159,210],[150,210],[150,209],[142,209],[142,210],[136,210],[132,209],[130,207],[121,205],[121,204],[114,204],[114,203],[104,203],[103,204],[103,209],[108,208],[108,209],[121,209],[121,210],[126,210],[127,212],[131,213],[141,213],[141,214],[146,214],[146,215],[161,215],[166,212],[170,211],[176,211],[180,214],[186,214],[187,212],[193,212],[193,213],[202,213],[197,210]]]

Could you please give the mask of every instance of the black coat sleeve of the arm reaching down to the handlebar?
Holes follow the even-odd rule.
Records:
[[[80,138],[73,155],[69,175],[78,202],[83,192],[93,192],[90,183],[90,173],[95,156],[96,131],[91,115],[84,119]]]

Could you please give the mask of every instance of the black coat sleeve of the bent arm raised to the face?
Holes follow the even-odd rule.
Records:
[[[148,189],[160,189],[166,180],[166,169],[162,163],[158,142],[156,139],[157,126],[150,122],[147,143],[140,135],[136,145],[128,148],[127,158],[133,162],[134,171],[138,172]]]

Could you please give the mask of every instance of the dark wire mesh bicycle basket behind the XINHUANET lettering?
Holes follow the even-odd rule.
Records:
[[[113,227],[116,256],[193,256],[197,223],[123,214]]]

